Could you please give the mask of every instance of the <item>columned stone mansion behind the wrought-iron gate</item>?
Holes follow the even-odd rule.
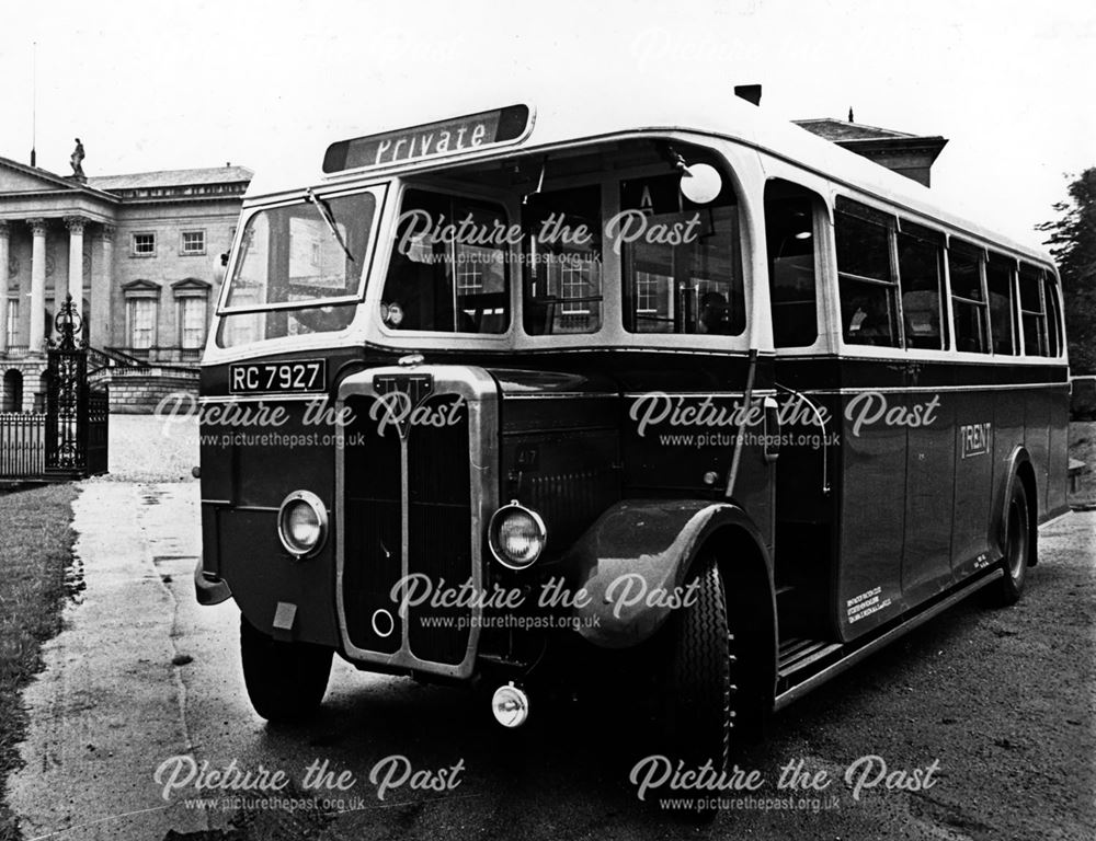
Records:
[[[150,383],[193,388],[251,176],[225,165],[83,178],[0,157],[0,412],[41,407],[66,295],[112,408]]]

